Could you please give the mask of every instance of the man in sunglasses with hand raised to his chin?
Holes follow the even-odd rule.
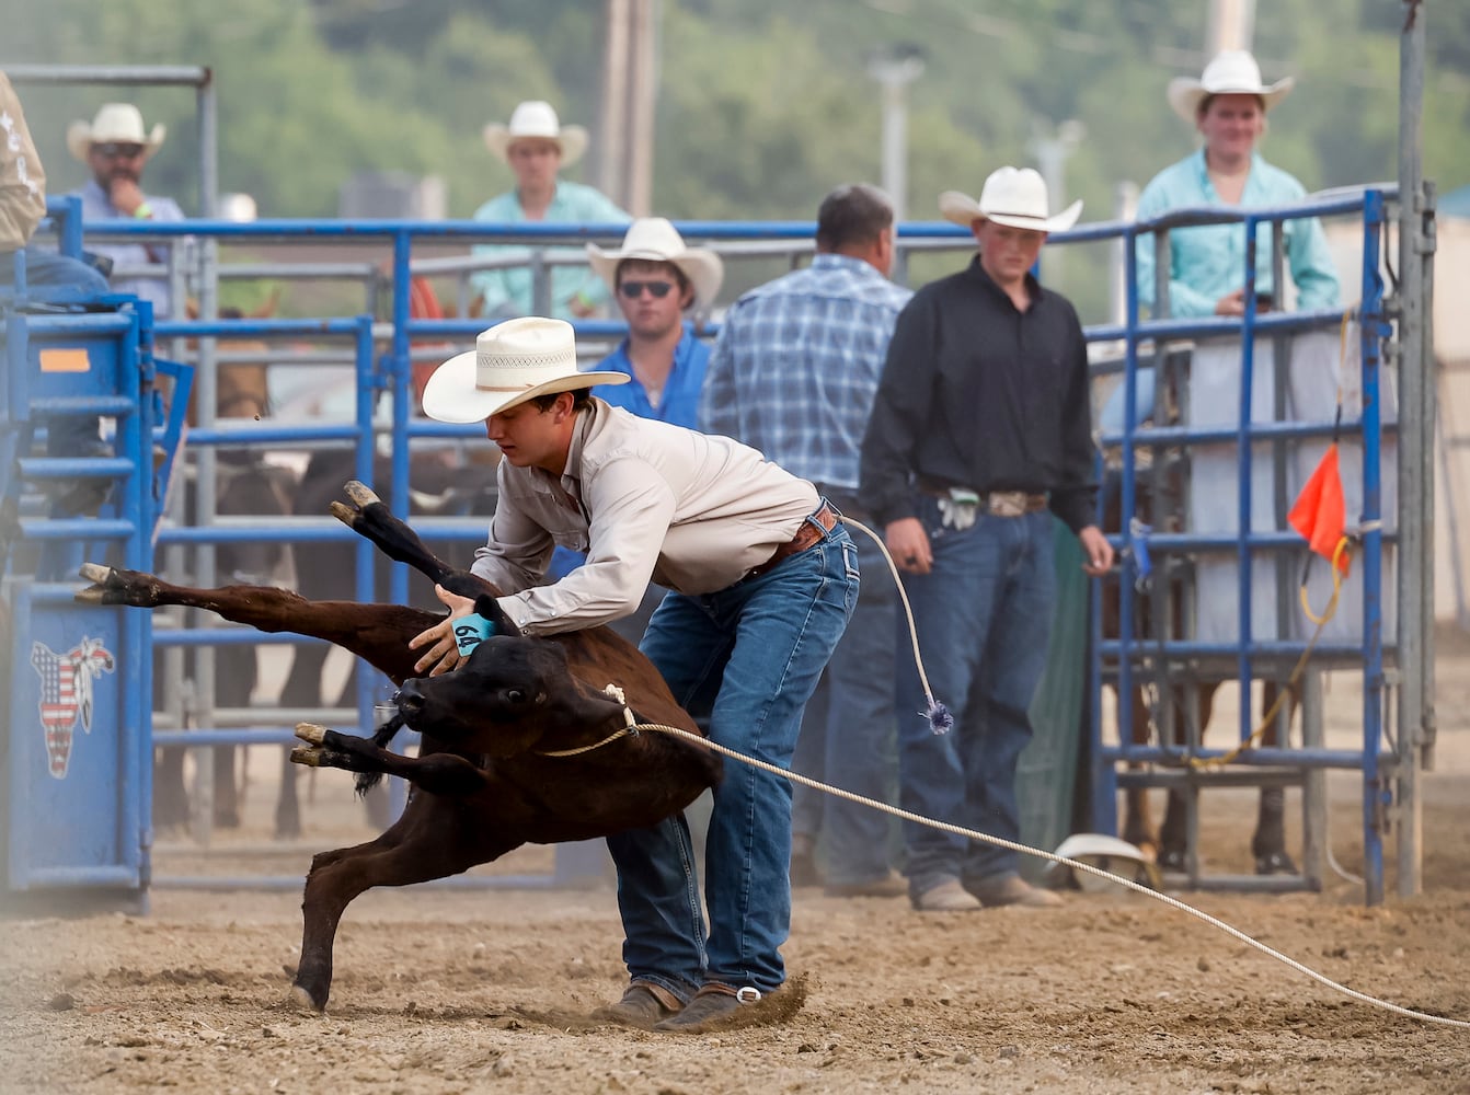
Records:
[[[143,191],[143,166],[148,162],[168,131],[160,122],[146,131],[143,115],[132,103],[104,103],[91,123],[72,122],[66,128],[66,147],[85,163],[91,181],[79,191],[82,219],[87,225],[98,220],[159,220],[184,219],[184,210],[173,198]],[[131,292],[153,303],[154,319],[173,315],[168,278],[128,276],[129,270],[166,263],[166,244],[112,243],[90,244],[97,254],[112,259],[115,292]],[[121,275],[121,276],[119,276]]]

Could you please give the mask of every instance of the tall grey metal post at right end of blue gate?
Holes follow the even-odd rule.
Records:
[[[1404,4],[1398,60],[1398,892],[1423,888],[1423,807],[1419,750],[1426,733],[1426,703],[1433,695],[1433,476],[1435,392],[1429,384],[1424,329],[1423,104],[1424,15],[1419,0]],[[1426,597],[1427,592],[1427,597]]]

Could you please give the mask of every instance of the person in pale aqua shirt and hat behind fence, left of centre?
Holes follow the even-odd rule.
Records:
[[[475,210],[476,220],[500,225],[628,223],[628,213],[600,191],[557,178],[563,166],[570,166],[585,151],[587,129],[562,125],[550,103],[522,103],[509,125],[497,122],[485,126],[485,144],[510,165],[516,188]],[[528,263],[532,250],[519,244],[478,244],[470,248],[470,254],[479,257],[520,260],[514,266],[479,270],[470,276],[470,285],[481,298],[481,315],[491,319],[531,315],[535,282]],[[547,257],[576,253],[572,247],[544,248]],[[581,265],[553,266],[550,287],[544,315],[557,319],[585,319],[607,301],[601,282]]]

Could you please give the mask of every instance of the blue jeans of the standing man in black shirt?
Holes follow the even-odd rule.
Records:
[[[1017,839],[1016,761],[1030,741],[1028,708],[1047,666],[1053,516],[982,514],[964,531],[944,528],[938,501],[920,500],[933,570],[906,575],[919,651],[936,700],[954,714],[948,733],[908,716],[925,707],[911,656],[900,658],[900,801],[906,810]],[[907,650],[907,642],[904,644]],[[919,897],[948,879],[978,882],[1016,870],[1016,852],[904,822],[908,889]]]

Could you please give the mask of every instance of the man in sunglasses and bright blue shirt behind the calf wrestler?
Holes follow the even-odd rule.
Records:
[[[685,247],[662,216],[634,220],[617,250],[588,244],[587,257],[628,320],[628,337],[597,367],[632,378],[592,394],[645,419],[697,429],[710,348],[685,316],[714,304],[725,278],[720,257]]]

